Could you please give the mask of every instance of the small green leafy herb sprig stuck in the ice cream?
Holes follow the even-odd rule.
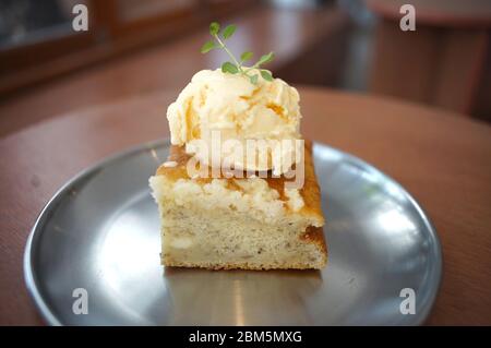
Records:
[[[230,24],[220,32],[220,25],[217,22],[213,22],[209,24],[209,35],[213,36],[213,40],[206,41],[201,47],[201,52],[207,53],[213,49],[223,49],[231,60],[221,64],[223,72],[230,74],[242,74],[255,85],[258,83],[259,75],[253,73],[253,71],[259,70],[264,80],[273,81],[273,75],[271,72],[265,69],[261,69],[261,65],[271,62],[275,58],[274,52],[261,56],[261,58],[252,67],[244,67],[243,63],[250,61],[254,55],[251,51],[244,51],[240,55],[240,59],[237,59],[226,45],[227,39],[233,35],[237,27],[233,24]]]

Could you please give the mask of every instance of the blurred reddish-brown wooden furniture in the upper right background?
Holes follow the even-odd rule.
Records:
[[[378,16],[369,91],[490,120],[489,0],[366,0]],[[399,9],[416,9],[403,32]]]

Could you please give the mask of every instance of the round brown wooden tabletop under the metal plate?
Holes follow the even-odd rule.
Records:
[[[301,87],[303,133],[355,154],[422,204],[443,247],[429,324],[491,324],[491,128],[451,112]],[[41,324],[22,273],[34,220],[68,179],[105,156],[168,135],[177,91],[75,110],[0,140],[0,324]]]

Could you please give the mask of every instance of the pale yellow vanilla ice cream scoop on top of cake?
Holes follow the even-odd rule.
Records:
[[[277,147],[278,141],[301,139],[299,94],[280,79],[266,81],[255,73],[256,84],[219,69],[197,72],[167,109],[171,143],[185,145],[189,154],[211,166],[226,163],[276,175],[288,170],[299,160],[295,146]],[[264,151],[248,145],[251,140],[260,141],[255,144]],[[219,154],[211,155],[216,149]],[[260,156],[264,154],[265,159]]]

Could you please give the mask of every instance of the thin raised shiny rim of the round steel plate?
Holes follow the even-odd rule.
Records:
[[[443,252],[442,247],[440,242],[439,235],[436,232],[436,229],[434,228],[434,225],[431,221],[431,218],[429,215],[424,212],[422,205],[412,196],[411,193],[409,193],[397,180],[392,178],[391,176],[386,175],[381,169],[372,166],[368,161],[361,159],[360,157],[357,157],[355,155],[351,155],[349,153],[346,153],[337,147],[312,141],[313,146],[322,146],[327,147],[331,151],[334,151],[336,153],[342,154],[346,158],[348,158],[350,161],[356,163],[358,165],[361,165],[363,167],[369,168],[370,170],[374,170],[380,172],[385,179],[388,179],[392,181],[402,192],[404,192],[404,195],[408,199],[408,201],[411,203],[411,205],[416,208],[418,215],[421,217],[422,221],[424,223],[429,233],[431,235],[431,238],[434,240],[434,252],[438,255],[436,257],[436,264],[434,265],[435,268],[435,275],[438,277],[436,285],[434,287],[434,290],[432,291],[430,296],[430,305],[423,308],[422,315],[418,315],[418,319],[415,321],[414,325],[421,325],[430,315],[431,311],[434,308],[436,297],[440,292],[441,285],[442,285],[442,274],[443,274]],[[27,292],[29,293],[31,298],[34,300],[34,304],[37,308],[38,312],[40,313],[40,316],[45,320],[45,322],[48,325],[51,326],[63,326],[63,324],[57,315],[51,311],[50,307],[46,303],[44,297],[40,293],[40,290],[38,288],[38,285],[36,283],[36,276],[33,271],[33,243],[35,241],[35,238],[39,238],[39,233],[41,231],[40,227],[47,221],[49,214],[47,214],[53,204],[57,203],[58,200],[60,200],[63,196],[63,193],[69,190],[73,184],[75,184],[80,179],[84,178],[85,176],[99,170],[100,168],[104,168],[106,166],[110,166],[113,161],[120,160],[122,158],[129,157],[135,153],[139,153],[141,151],[152,149],[156,146],[166,146],[170,145],[170,139],[157,139],[153,141],[148,141],[145,143],[136,144],[129,146],[120,152],[117,152],[112,155],[106,156],[103,159],[97,160],[95,164],[88,166],[87,168],[79,171],[76,175],[74,175],[71,179],[69,179],[65,183],[63,183],[56,192],[55,194],[48,200],[48,202],[44,205],[40,213],[37,215],[36,220],[29,231],[29,235],[26,240],[25,249],[24,249],[24,255],[23,255],[23,274],[24,274],[24,281],[25,286],[27,288]],[[40,231],[39,231],[40,230]]]

